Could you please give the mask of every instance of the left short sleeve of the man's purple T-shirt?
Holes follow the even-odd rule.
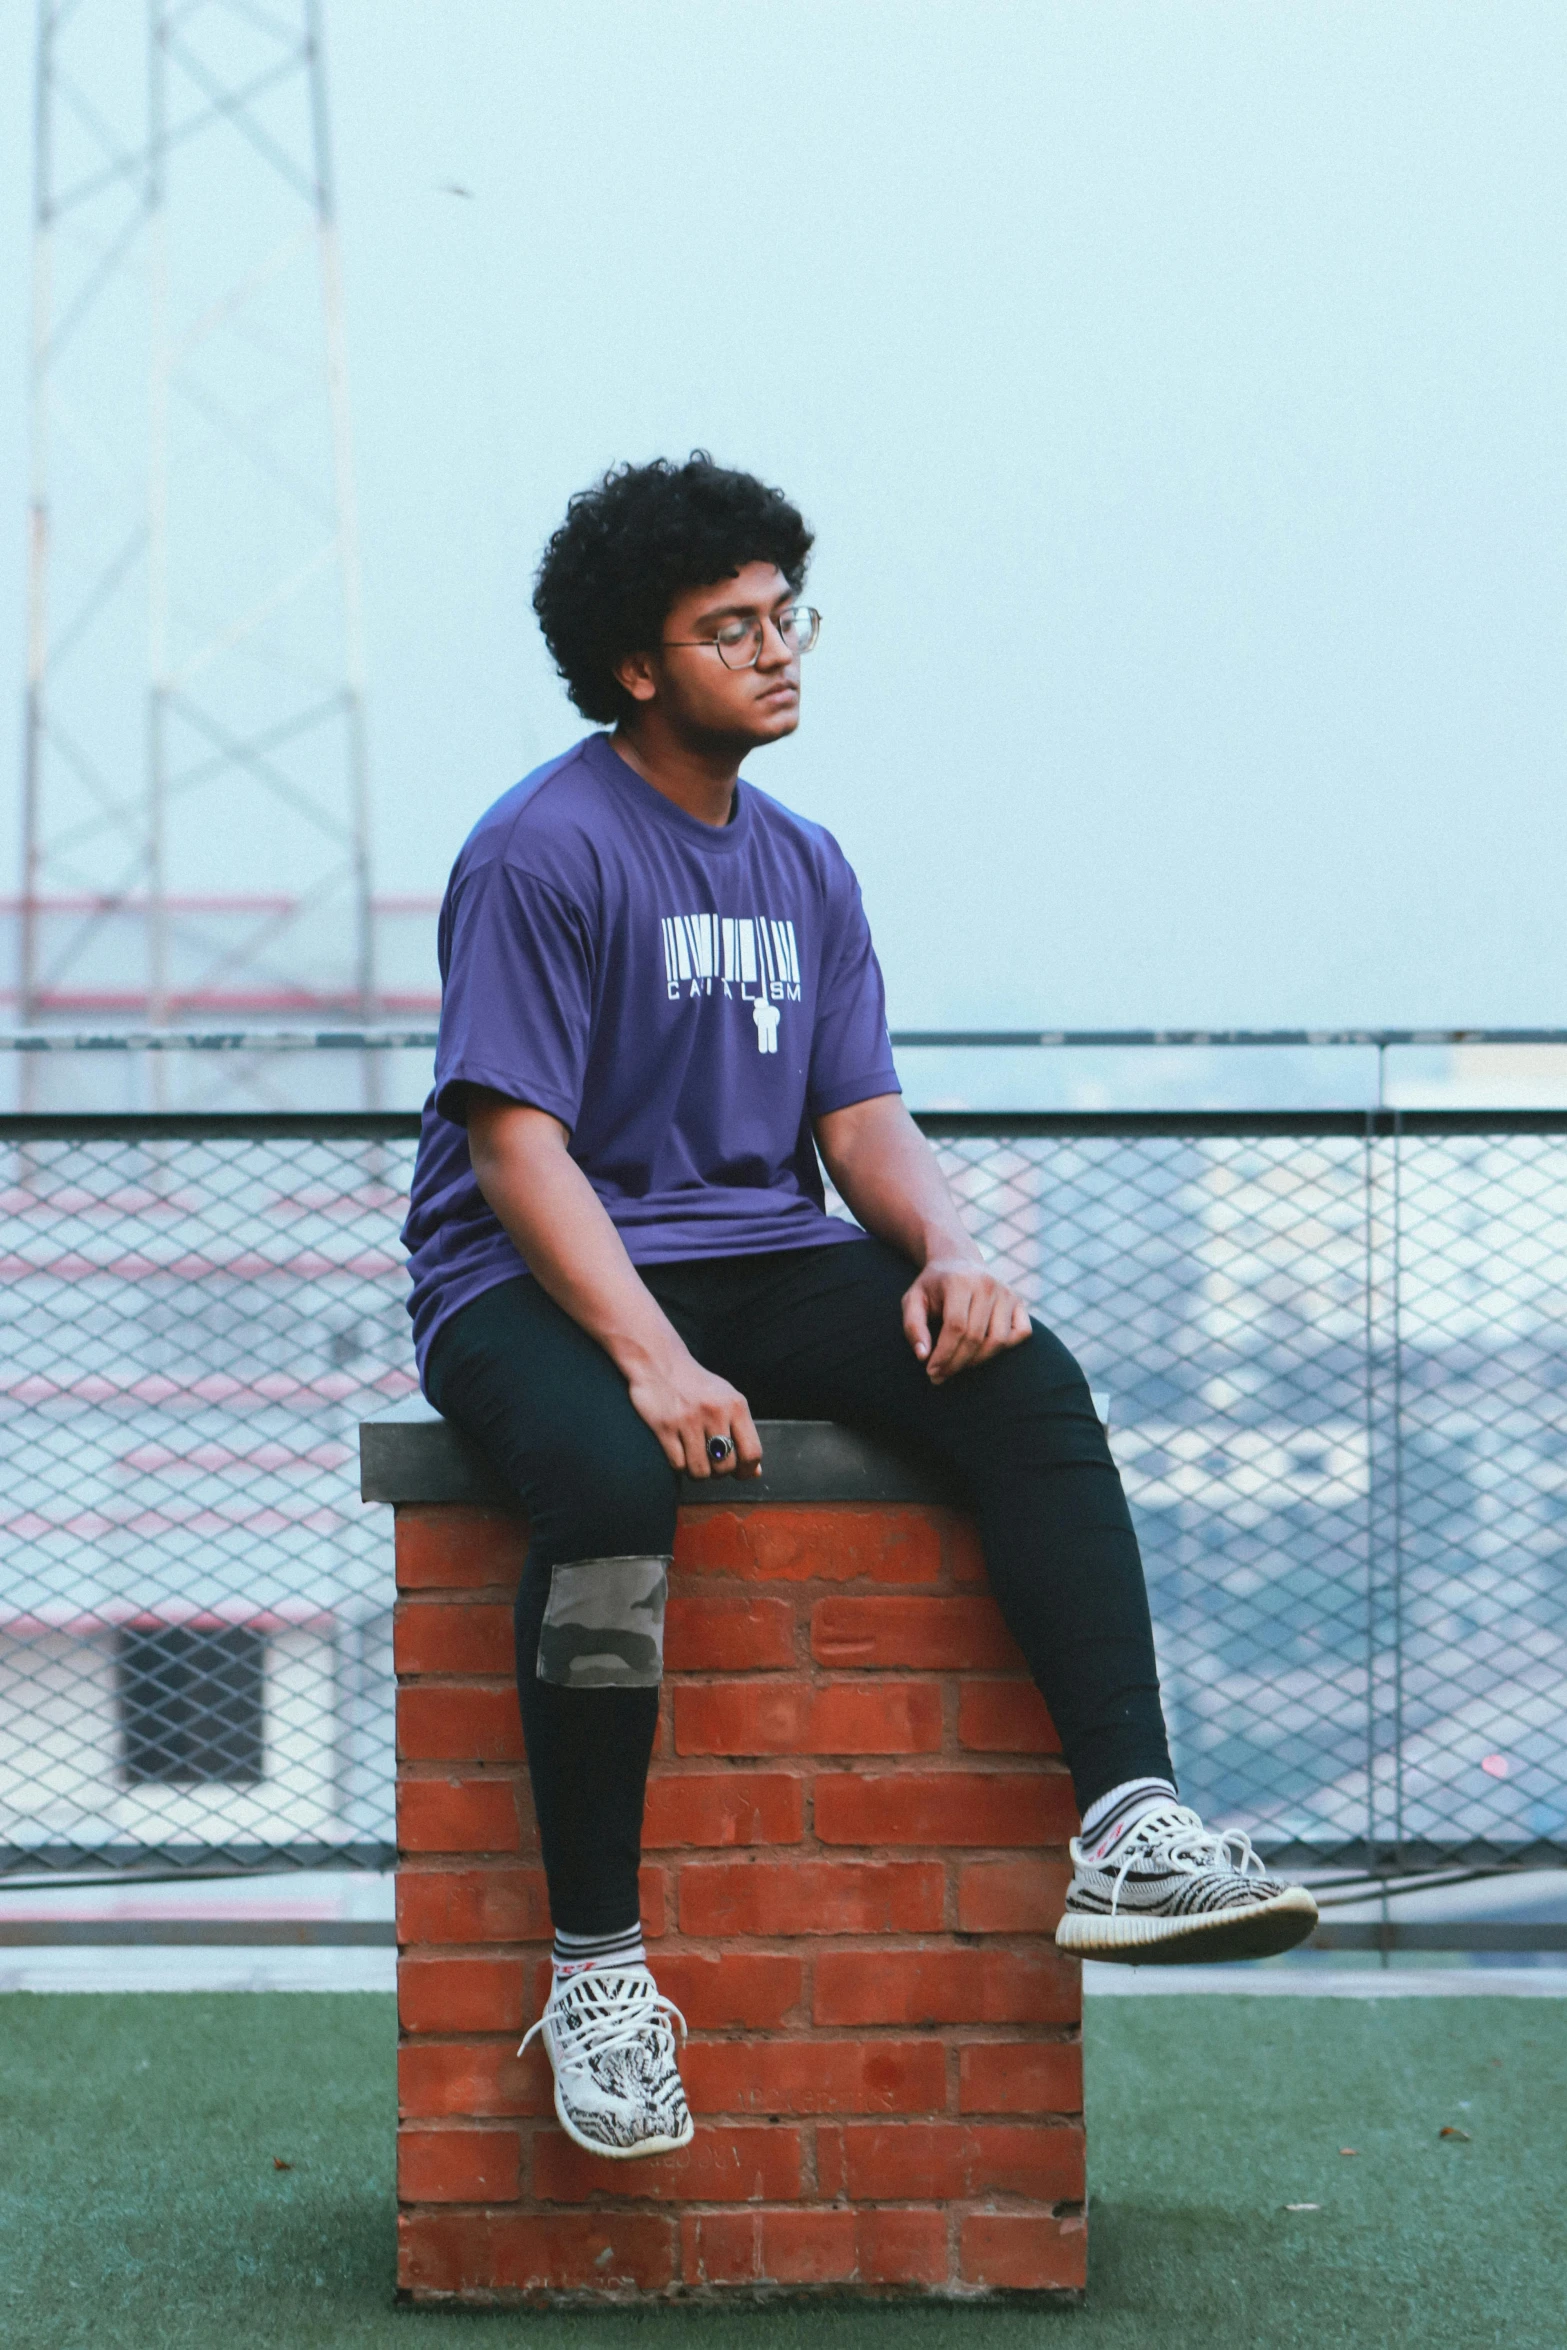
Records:
[[[505,862],[465,874],[446,912],[437,1112],[465,1126],[468,1086],[489,1086],[576,1128],[594,975],[585,914]]]

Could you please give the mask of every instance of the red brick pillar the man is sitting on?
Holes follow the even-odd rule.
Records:
[[[970,1525],[888,1499],[923,1488],[850,1450],[881,1497],[771,1471],[761,1499],[681,1509],[641,1908],[695,2143],[637,2164],[571,2146],[543,2049],[515,2054],[550,1979],[524,1530],[439,1499],[475,1471],[428,1450],[383,1478],[404,2298],[1081,2291],[1081,1976],[1050,1939],[1071,1784]]]

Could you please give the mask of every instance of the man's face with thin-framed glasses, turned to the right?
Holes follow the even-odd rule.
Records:
[[[773,564],[745,564],[712,588],[686,588],[665,616],[663,644],[623,663],[620,684],[639,705],[658,703],[674,731],[693,740],[778,743],[799,726],[799,651],[775,625],[796,602]],[[749,670],[726,667],[717,649],[719,630],[735,620],[761,623],[761,651]],[[747,651],[742,646],[738,658]]]

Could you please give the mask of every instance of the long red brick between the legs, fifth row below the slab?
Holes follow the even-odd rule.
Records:
[[[940,1861],[686,1861],[681,1934],[935,1934]]]

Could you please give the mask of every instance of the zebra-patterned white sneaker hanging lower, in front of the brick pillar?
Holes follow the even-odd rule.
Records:
[[[691,2146],[693,2124],[674,2030],[686,2019],[646,1967],[583,1967],[550,1988],[545,2012],[524,2035],[543,2035],[554,2068],[554,2117],[573,2146],[632,2162]]]

